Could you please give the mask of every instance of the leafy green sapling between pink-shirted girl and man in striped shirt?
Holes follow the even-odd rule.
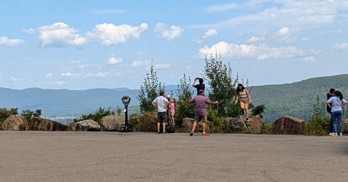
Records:
[[[176,126],[181,127],[183,118],[194,118],[195,110],[192,104],[189,104],[190,99],[193,95],[193,90],[191,86],[191,78],[187,78],[185,73],[183,78],[180,79],[180,82],[177,85],[176,95],[179,100],[175,104],[175,123]],[[177,127],[176,127],[177,128]]]

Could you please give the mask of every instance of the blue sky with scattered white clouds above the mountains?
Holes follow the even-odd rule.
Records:
[[[0,0],[0,87],[142,85],[200,77],[221,54],[249,85],[346,74],[348,0]]]

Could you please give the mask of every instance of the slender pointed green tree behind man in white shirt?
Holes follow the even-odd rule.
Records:
[[[164,90],[165,86],[158,81],[157,72],[154,71],[154,67],[151,60],[150,73],[146,73],[143,85],[140,86],[139,95],[136,97],[140,104],[141,113],[156,113],[157,108],[151,103],[159,95],[160,90]]]

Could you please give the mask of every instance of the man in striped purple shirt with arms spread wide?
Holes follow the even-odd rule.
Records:
[[[199,95],[193,97],[190,101],[190,104],[195,104],[195,122],[192,125],[192,132],[190,133],[190,136],[193,135],[193,132],[195,132],[197,122],[202,122],[202,129],[203,134],[202,136],[208,136],[209,134],[205,132],[206,128],[206,121],[207,121],[207,105],[208,104],[219,104],[219,102],[211,102],[204,93],[204,90],[199,90]]]

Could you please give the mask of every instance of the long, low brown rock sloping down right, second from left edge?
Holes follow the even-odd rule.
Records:
[[[49,119],[33,117],[29,130],[33,131],[66,131],[68,126]]]

